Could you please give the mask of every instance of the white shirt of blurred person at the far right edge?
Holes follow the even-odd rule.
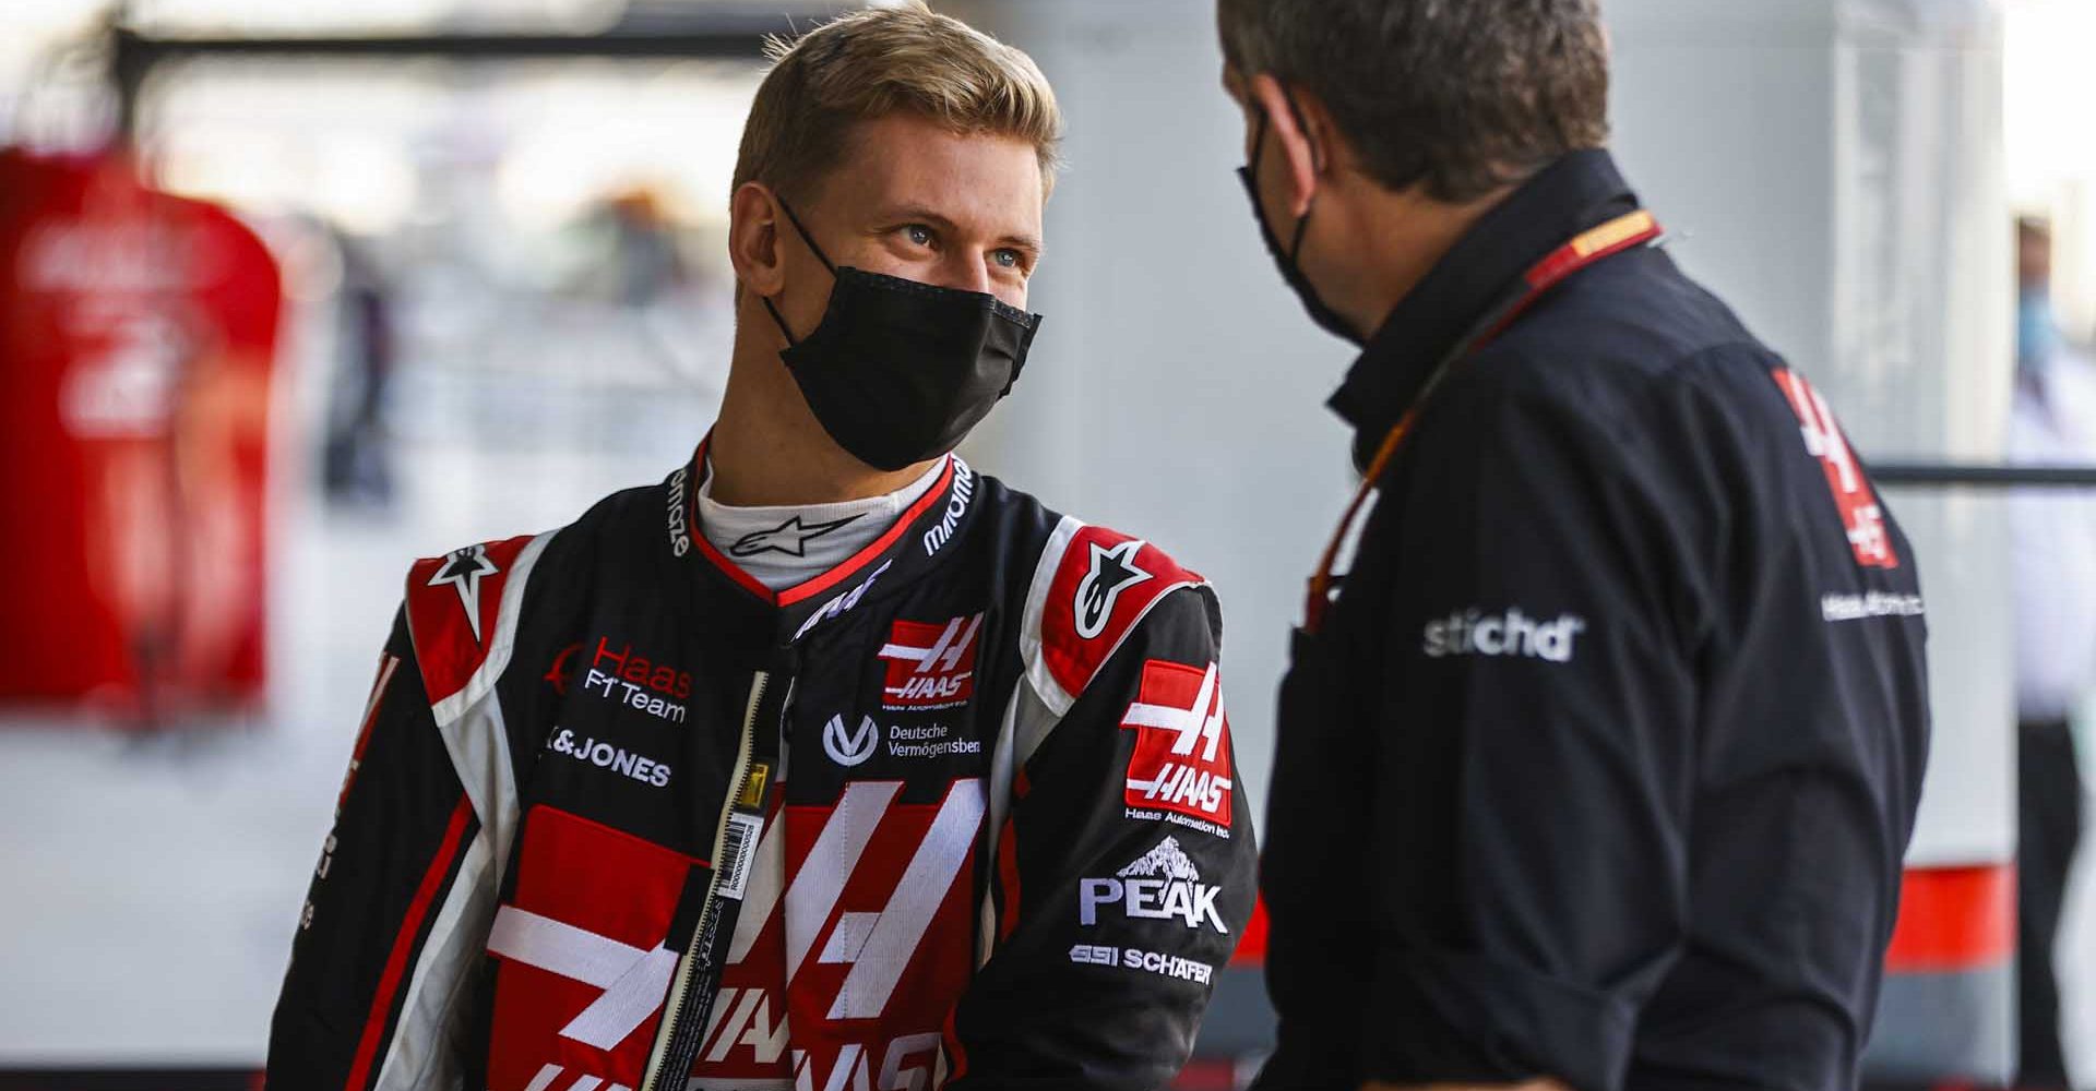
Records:
[[[2096,364],[2058,354],[2016,381],[2008,461],[2096,465]],[[2016,580],[2016,710],[2067,718],[2096,687],[2096,490],[2008,498]]]

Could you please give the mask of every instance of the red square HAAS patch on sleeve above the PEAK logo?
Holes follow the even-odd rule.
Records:
[[[1216,664],[1207,670],[1151,660],[1121,714],[1136,731],[1123,802],[1230,827],[1230,722]]]

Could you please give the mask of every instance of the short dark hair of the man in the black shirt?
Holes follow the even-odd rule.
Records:
[[[1362,170],[1463,203],[1608,142],[1595,0],[1220,0],[1222,48],[1325,103]]]

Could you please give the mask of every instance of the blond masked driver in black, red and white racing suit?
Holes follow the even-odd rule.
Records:
[[[1218,607],[949,448],[1061,126],[920,6],[780,52],[711,438],[413,565],[268,1087],[1151,1089],[1253,900]]]

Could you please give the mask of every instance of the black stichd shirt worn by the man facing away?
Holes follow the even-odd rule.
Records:
[[[1534,262],[1635,207],[1595,151],[1490,211],[1331,400],[1356,461]],[[1811,385],[1664,249],[1572,274],[1432,396],[1297,634],[1260,1087],[1851,1087],[1924,637]]]

